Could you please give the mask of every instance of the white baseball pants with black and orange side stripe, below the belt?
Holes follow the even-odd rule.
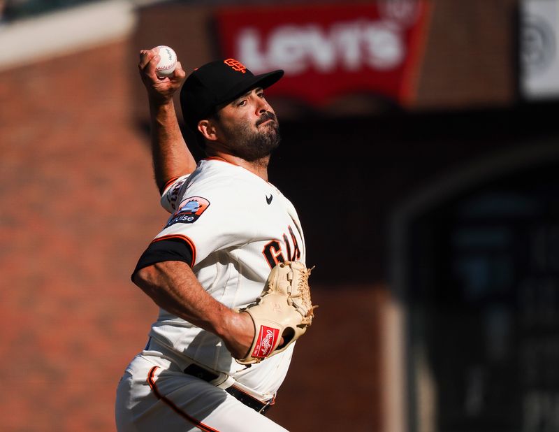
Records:
[[[119,432],[286,432],[223,389],[145,355],[118,384],[115,419]]]

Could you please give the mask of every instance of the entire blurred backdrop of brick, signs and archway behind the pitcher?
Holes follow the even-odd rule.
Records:
[[[157,316],[129,276],[166,221],[136,69],[164,44],[187,72],[286,70],[270,181],[298,208],[320,308],[269,417],[559,431],[559,1],[0,10],[2,430],[115,430]]]

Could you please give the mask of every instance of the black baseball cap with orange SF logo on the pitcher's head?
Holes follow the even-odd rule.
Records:
[[[282,78],[278,69],[254,75],[235,59],[217,60],[200,66],[188,76],[180,90],[180,108],[187,127],[199,137],[198,122],[212,115],[215,108],[231,102],[256,87],[270,87]]]

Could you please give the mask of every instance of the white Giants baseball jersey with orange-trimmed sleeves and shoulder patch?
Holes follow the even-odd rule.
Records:
[[[295,208],[276,187],[245,168],[203,159],[194,173],[166,187],[161,204],[172,215],[154,241],[175,239],[189,245],[196,278],[229,308],[253,303],[278,262],[305,263]],[[295,345],[245,368],[220,338],[166,310],[160,310],[150,336],[270,397],[284,380]]]

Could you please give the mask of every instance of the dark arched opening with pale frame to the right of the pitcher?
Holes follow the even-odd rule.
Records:
[[[555,427],[558,168],[556,143],[530,143],[441,179],[395,216],[411,431]]]

